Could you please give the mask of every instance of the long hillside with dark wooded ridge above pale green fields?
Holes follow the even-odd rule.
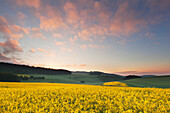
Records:
[[[21,82],[83,83],[101,85],[104,82],[123,80],[123,76],[117,74],[96,71],[77,71],[72,73],[61,69],[55,70],[3,62],[0,63],[0,72],[17,74],[20,76]]]

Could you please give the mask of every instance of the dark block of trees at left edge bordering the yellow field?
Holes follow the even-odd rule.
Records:
[[[0,73],[0,82],[20,82],[20,78],[14,74]]]

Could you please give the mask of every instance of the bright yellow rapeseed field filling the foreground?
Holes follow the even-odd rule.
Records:
[[[170,89],[0,82],[0,113],[168,113]]]

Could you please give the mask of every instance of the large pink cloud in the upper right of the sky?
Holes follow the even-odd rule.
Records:
[[[111,35],[129,36],[144,28],[147,22],[144,19],[135,19],[137,12],[130,9],[128,2],[119,5],[117,12],[111,20],[110,31]]]

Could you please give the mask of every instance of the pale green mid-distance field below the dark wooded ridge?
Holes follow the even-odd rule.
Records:
[[[29,79],[21,82],[51,82],[51,83],[75,83],[75,84],[96,84],[102,85],[104,82],[123,80],[117,76],[106,75],[88,75],[88,74],[71,74],[71,75],[44,75],[44,74],[30,74],[30,76],[44,77],[45,79]]]

